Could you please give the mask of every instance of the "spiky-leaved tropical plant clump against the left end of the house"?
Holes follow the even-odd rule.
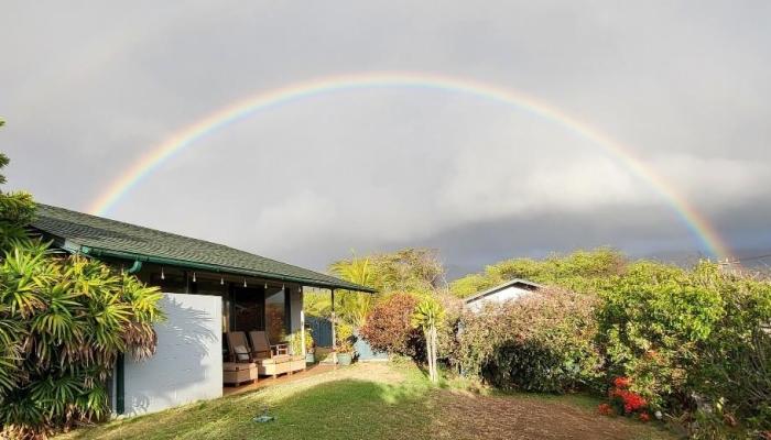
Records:
[[[158,289],[28,238],[33,215],[29,195],[0,193],[0,438],[105,418],[118,355],[151,355],[162,319]]]

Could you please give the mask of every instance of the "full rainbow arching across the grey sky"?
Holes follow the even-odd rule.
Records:
[[[422,88],[465,94],[489,101],[498,102],[518,110],[552,121],[567,129],[574,135],[586,139],[617,160],[633,175],[647,182],[677,213],[683,223],[713,256],[728,258],[729,248],[709,223],[675,188],[661,175],[651,169],[633,151],[616,142],[591,127],[569,114],[549,106],[533,97],[508,88],[480,81],[425,73],[362,73],[337,75],[261,91],[243,100],[227,106],[206,118],[187,125],[152,147],[139,161],[127,168],[120,177],[90,205],[89,212],[107,215],[142,179],[158,169],[175,154],[191,146],[196,141],[222,129],[236,121],[248,118],[256,112],[307,99],[319,95],[351,89],[373,88]]]

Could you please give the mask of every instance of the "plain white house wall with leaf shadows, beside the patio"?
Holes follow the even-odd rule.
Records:
[[[167,319],[155,326],[155,355],[142,362],[126,358],[127,415],[222,395],[221,298],[163,294],[161,307]]]

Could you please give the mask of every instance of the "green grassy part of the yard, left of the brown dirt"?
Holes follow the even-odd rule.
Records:
[[[428,431],[430,420],[422,410],[427,389],[420,383],[338,380],[296,392],[265,389],[203,402],[80,429],[69,438],[360,439],[366,432],[369,439],[420,439]],[[252,421],[265,406],[276,420]]]

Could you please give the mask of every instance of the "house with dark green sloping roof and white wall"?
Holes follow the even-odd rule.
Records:
[[[264,330],[271,342],[304,334],[306,287],[329,289],[333,298],[335,289],[373,292],[222,244],[47,205],[37,205],[31,232],[163,292],[167,319],[155,327],[156,353],[116,365],[111,400],[118,415],[221,396],[224,332]]]

